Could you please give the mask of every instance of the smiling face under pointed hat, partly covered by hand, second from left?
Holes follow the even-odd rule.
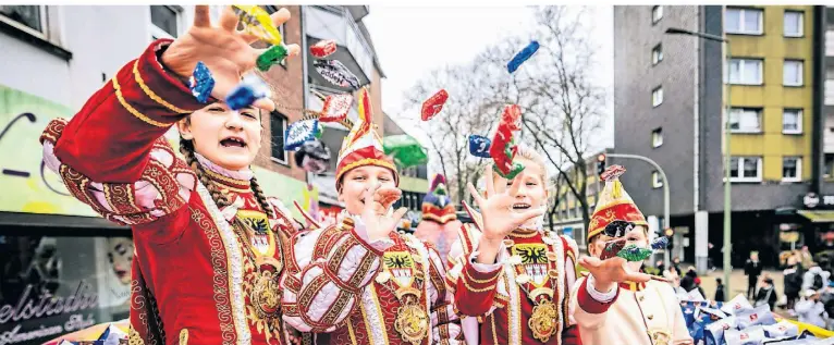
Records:
[[[394,173],[388,168],[376,165],[354,168],[342,176],[339,201],[345,204],[348,213],[361,214],[365,208],[365,190],[376,184],[380,184],[380,188],[395,188]]]

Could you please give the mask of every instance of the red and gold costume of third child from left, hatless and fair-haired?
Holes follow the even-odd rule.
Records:
[[[455,286],[456,308],[467,316],[467,343],[581,344],[568,310],[576,243],[541,229],[518,229],[504,239],[499,263],[480,264],[475,261],[480,215],[464,206],[475,224],[461,227],[446,279]]]

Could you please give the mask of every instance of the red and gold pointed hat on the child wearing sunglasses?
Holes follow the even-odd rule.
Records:
[[[597,207],[591,214],[590,224],[588,224],[588,241],[602,233],[605,226],[614,221],[648,226],[642,212],[620,182],[620,175],[624,173],[625,168],[611,165],[600,175],[605,181],[605,187],[598,196]]]

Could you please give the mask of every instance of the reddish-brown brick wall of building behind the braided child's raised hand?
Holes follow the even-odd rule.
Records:
[[[291,19],[284,24],[284,41],[286,44],[302,44],[302,25],[299,7],[285,7],[292,14]],[[298,109],[304,103],[304,70],[302,58],[294,57],[286,60],[286,69],[274,65],[267,73],[267,82],[272,85],[272,99],[279,104],[279,111],[287,116],[289,123],[301,120],[302,113]],[[282,109],[285,107],[287,109]],[[271,116],[262,116],[263,135],[261,138],[261,148],[256,165],[278,172],[298,181],[307,181],[303,169],[295,165],[293,152],[286,152],[287,163],[282,164],[270,159],[272,155],[272,133],[270,127]]]

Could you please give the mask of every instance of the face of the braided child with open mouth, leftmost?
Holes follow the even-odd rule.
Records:
[[[247,169],[260,149],[260,111],[232,111],[223,102],[209,104],[177,123],[180,135],[194,150],[229,170]]]

